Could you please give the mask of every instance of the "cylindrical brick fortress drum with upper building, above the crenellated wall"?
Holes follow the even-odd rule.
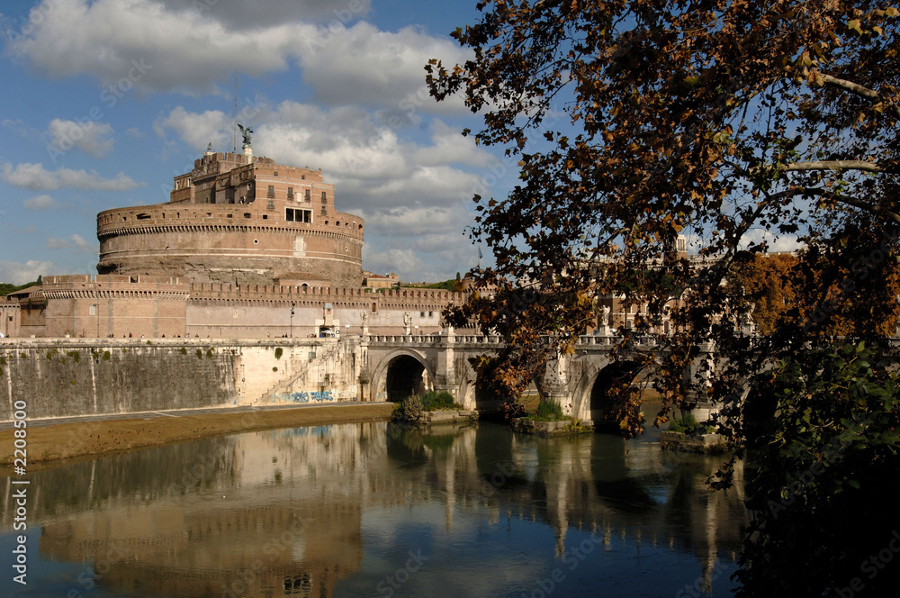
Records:
[[[100,274],[192,282],[362,284],[363,220],[334,208],[321,171],[207,153],[172,201],[97,215]]]

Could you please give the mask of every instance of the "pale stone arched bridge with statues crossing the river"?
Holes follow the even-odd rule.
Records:
[[[617,337],[582,335],[572,355],[552,360],[545,373],[545,386],[563,405],[563,412],[583,421],[599,421],[607,408],[607,390],[614,381],[632,382],[640,376],[634,361],[613,363],[611,353]],[[399,401],[422,390],[452,394],[457,403],[470,409],[494,406],[483,396],[469,362],[479,355],[491,355],[502,347],[497,336],[455,334],[365,336],[363,361],[368,364],[370,384],[364,399]],[[653,354],[660,350],[654,339],[635,341],[631,354]],[[626,357],[627,357],[626,353]],[[687,374],[696,376],[703,355]]]

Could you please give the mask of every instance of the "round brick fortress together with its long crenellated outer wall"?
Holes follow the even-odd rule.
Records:
[[[97,215],[98,275],[0,297],[9,337],[279,338],[440,329],[462,295],[363,286],[363,219],[322,171],[208,148],[166,204]]]

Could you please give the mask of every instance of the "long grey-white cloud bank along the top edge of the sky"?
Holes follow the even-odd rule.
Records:
[[[49,77],[97,77],[107,106],[131,89],[210,93],[235,70],[262,77],[297,64],[314,97],[328,104],[380,104],[406,116],[464,109],[423,93],[428,59],[461,62],[464,50],[417,28],[382,32],[356,22],[367,3],[315,0],[304,3],[309,11],[289,0],[271,10],[238,0],[206,0],[208,10],[198,4],[44,0],[33,9],[40,13],[33,31],[9,50]]]

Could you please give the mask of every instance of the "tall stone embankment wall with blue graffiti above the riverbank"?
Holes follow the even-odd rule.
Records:
[[[347,340],[0,340],[0,421],[356,399]],[[284,392],[290,389],[290,393]]]

